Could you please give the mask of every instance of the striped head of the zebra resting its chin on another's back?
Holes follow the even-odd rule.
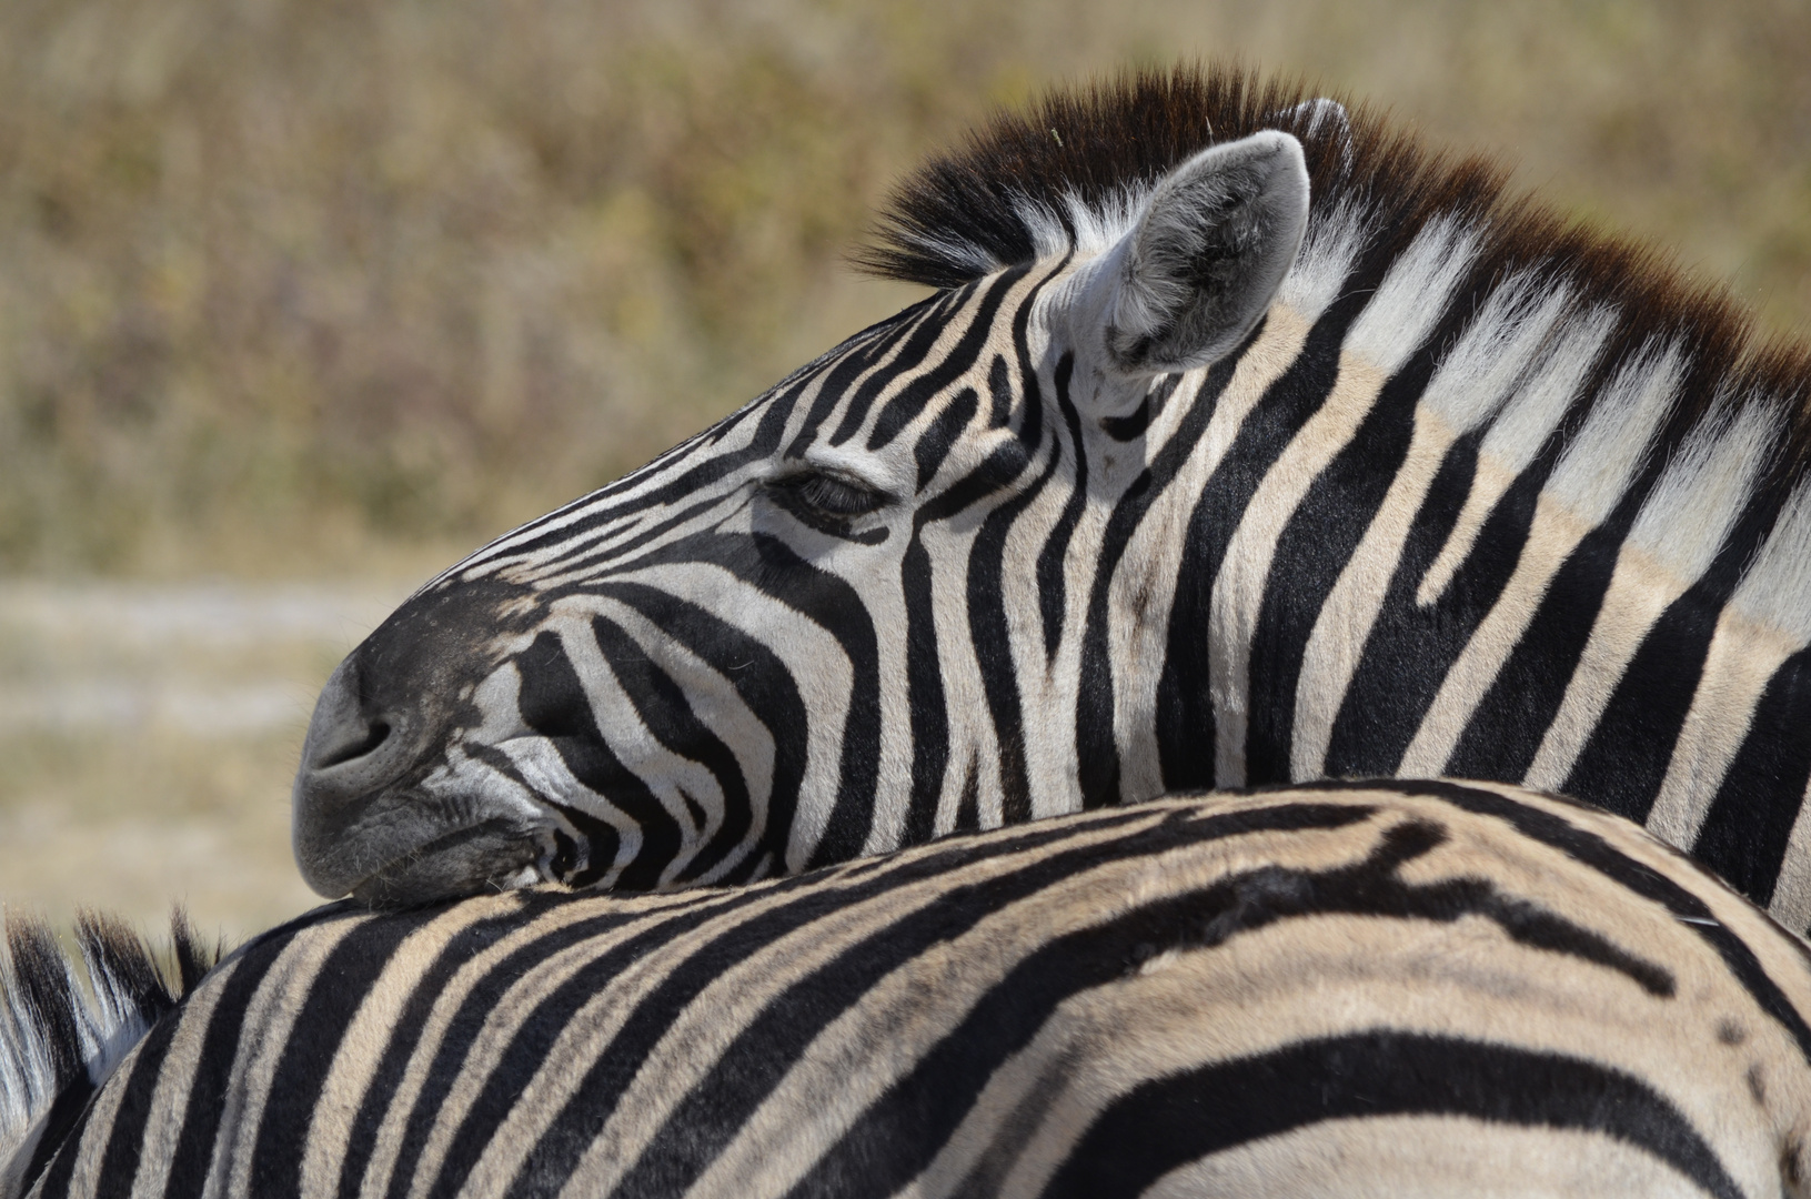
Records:
[[[1072,734],[1143,592],[1070,565],[1166,402],[1262,341],[1309,214],[1289,132],[1175,159],[994,197],[1018,261],[920,270],[929,299],[407,600],[315,708],[310,886],[735,882],[1139,790]]]

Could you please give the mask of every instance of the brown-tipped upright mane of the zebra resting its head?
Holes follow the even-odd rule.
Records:
[[[1762,337],[1724,286],[1688,279],[1655,246],[1510,196],[1501,161],[1429,150],[1376,109],[1317,98],[1298,80],[1184,65],[1049,92],[907,177],[853,261],[887,279],[951,288],[1070,250],[1092,254],[1132,226],[1150,188],[1177,163],[1260,129],[1295,134],[1308,158],[1311,214],[1297,273],[1313,272],[1317,246],[1356,235],[1360,257],[1396,255],[1416,234],[1447,223],[1476,245],[1454,292],[1472,308],[1503,284],[1539,283],[1565,290],[1576,319],[1610,313],[1603,368],[1586,395],[1617,364],[1662,346],[1679,355],[1681,402],[1655,462],[1670,460],[1702,417],[1760,404],[1778,435],[1766,478],[1777,484],[1773,494],[1784,496],[1806,475],[1806,344]]]

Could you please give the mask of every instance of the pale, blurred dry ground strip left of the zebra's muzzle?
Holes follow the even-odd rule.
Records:
[[[0,902],[255,933],[317,904],[290,775],[333,665],[407,583],[0,583]]]

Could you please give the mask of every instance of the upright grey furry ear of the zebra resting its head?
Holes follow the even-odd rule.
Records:
[[[1107,263],[1108,362],[1168,375],[1231,353],[1270,310],[1306,228],[1300,141],[1264,130],[1195,154],[1157,183]]]

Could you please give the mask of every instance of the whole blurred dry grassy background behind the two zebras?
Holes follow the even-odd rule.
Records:
[[[1192,56],[1811,319],[1804,0],[0,4],[0,897],[306,906],[288,773],[389,601],[909,301],[842,254],[927,149]]]

